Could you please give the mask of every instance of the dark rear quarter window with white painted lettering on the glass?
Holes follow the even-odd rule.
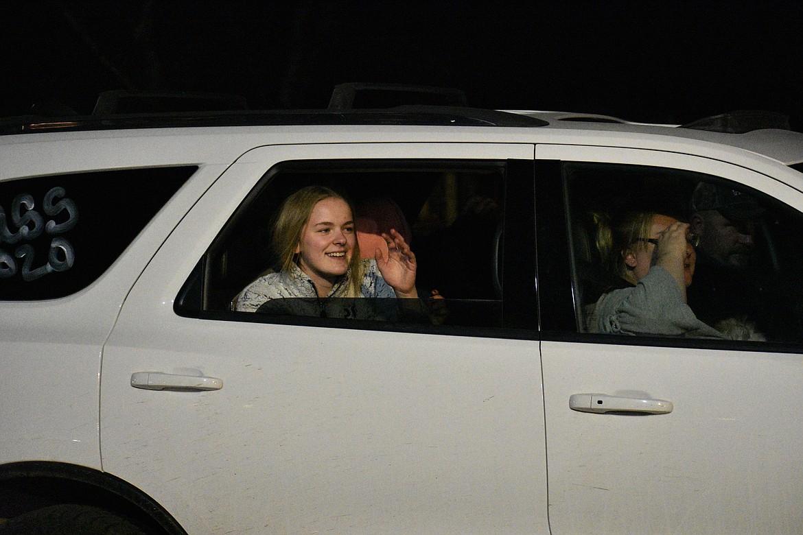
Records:
[[[0,300],[62,298],[92,284],[196,169],[0,183]]]

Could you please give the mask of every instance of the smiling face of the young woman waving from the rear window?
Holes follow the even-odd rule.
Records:
[[[349,270],[356,241],[346,201],[336,197],[319,201],[296,245],[299,267],[316,286],[320,286],[321,279],[331,286]]]

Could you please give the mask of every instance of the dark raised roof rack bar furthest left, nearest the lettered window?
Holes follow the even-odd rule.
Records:
[[[169,111],[247,110],[240,95],[197,91],[104,91],[98,96],[92,116],[124,113],[159,113]]]

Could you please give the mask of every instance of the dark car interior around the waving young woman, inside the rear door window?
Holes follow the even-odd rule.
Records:
[[[417,257],[419,297],[435,291],[448,302],[449,314],[438,322],[498,323],[503,176],[504,164],[489,161],[281,164],[263,176],[210,246],[194,284],[182,292],[180,308],[230,312],[245,286],[277,269],[272,227],[283,200],[304,186],[320,184],[343,194],[356,210],[364,249],[373,249],[382,241],[377,233],[390,228],[409,233],[406,241]],[[361,253],[373,257],[371,251]]]

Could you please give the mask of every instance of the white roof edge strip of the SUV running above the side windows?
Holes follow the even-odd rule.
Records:
[[[100,132],[51,132],[0,136],[5,156],[0,180],[63,172],[136,166],[232,162],[251,148],[304,143],[524,143],[645,148],[696,154],[755,168],[760,160],[803,161],[803,133],[758,130],[722,134],[687,128],[631,124],[560,123],[542,128],[427,127],[393,125],[145,128]],[[69,146],[70,148],[66,148]],[[4,151],[8,147],[10,150]],[[91,153],[96,163],[85,156]],[[756,169],[759,170],[759,169]]]

